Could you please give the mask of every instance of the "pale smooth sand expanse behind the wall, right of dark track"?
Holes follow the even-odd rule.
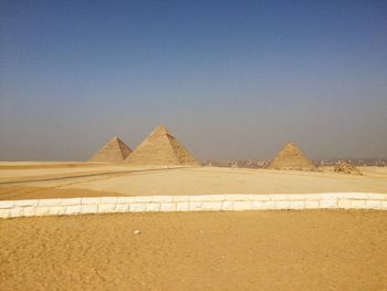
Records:
[[[67,187],[115,191],[124,195],[387,193],[387,168],[383,177],[374,176],[373,173],[351,176],[268,169],[164,169],[85,181]]]

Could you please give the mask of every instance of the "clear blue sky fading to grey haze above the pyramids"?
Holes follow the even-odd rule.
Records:
[[[0,160],[164,123],[198,159],[387,157],[387,1],[0,1]]]

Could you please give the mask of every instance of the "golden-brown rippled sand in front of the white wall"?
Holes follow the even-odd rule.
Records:
[[[387,290],[386,211],[18,218],[0,231],[2,291]]]

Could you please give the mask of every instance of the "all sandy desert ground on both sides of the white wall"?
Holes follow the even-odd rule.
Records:
[[[387,193],[387,168],[360,170],[0,163],[0,199]],[[0,246],[0,290],[387,290],[387,211],[2,219]]]

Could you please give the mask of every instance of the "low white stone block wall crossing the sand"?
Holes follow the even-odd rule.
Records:
[[[113,212],[242,211],[273,209],[387,210],[387,194],[224,194],[3,200],[0,201],[0,218]]]

